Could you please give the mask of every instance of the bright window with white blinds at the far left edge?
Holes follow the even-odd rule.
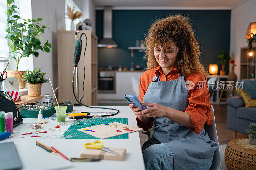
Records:
[[[7,32],[7,1],[0,0],[0,71],[3,71],[6,62],[9,61],[9,46],[5,39]]]

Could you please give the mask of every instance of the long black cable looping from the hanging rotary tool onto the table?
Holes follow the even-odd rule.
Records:
[[[81,37],[82,37],[83,34],[84,34],[85,37],[86,37],[86,46],[85,46],[85,50],[84,50],[84,56],[85,56],[86,47],[87,47],[87,36],[86,36],[85,33],[82,33],[82,34],[80,35],[80,39],[81,39]],[[83,97],[81,98],[81,100],[80,100],[80,102],[79,102],[79,101],[77,100],[77,98],[76,98],[75,91],[74,91],[74,77],[75,77],[75,73],[73,73],[73,78],[72,78],[72,89],[73,89],[73,95],[74,95],[74,97],[75,97],[75,99],[76,99],[76,101],[77,101],[78,103],[82,104],[82,105],[85,106],[85,107],[89,107],[89,108],[110,109],[110,110],[116,110],[116,111],[117,111],[116,113],[113,113],[113,114],[111,114],[111,115],[102,115],[102,117],[114,116],[114,115],[116,115],[116,114],[118,114],[118,113],[120,112],[118,109],[114,109],[114,108],[87,106],[87,105],[81,103],[81,100],[82,100],[82,98],[84,97],[84,95],[83,95]],[[84,66],[84,80],[85,80],[85,66]],[[84,82],[83,82],[83,91],[84,91]]]

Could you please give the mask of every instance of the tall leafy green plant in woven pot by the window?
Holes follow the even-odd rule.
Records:
[[[19,88],[23,89],[26,84],[21,80],[21,74],[23,74],[24,71],[18,71],[20,59],[24,57],[28,58],[31,54],[38,57],[39,53],[37,50],[39,49],[49,53],[49,48],[51,48],[52,45],[48,40],[41,45],[43,42],[41,35],[44,33],[44,29],[48,28],[39,23],[42,18],[37,18],[36,20],[20,18],[20,13],[17,12],[18,7],[12,4],[13,2],[14,0],[7,0],[8,26],[5,29],[7,32],[5,38],[8,40],[11,49],[10,57],[16,61],[16,70],[8,70],[7,74],[8,77],[17,77],[19,80]]]

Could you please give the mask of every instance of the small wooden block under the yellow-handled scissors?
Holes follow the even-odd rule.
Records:
[[[104,159],[104,160],[124,160],[126,149],[124,148],[107,148],[111,151],[118,153],[115,155],[113,153],[102,151],[101,149],[85,149],[80,155],[80,158],[89,159]]]

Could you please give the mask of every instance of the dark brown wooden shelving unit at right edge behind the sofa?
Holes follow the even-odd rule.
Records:
[[[250,74],[252,73],[252,67],[250,62],[252,62],[252,59],[254,57],[254,67],[253,67],[253,72],[254,76],[256,73],[256,58],[255,58],[255,47],[252,48],[253,55],[249,56],[248,55],[248,49],[247,47],[241,48],[241,61],[240,61],[240,79],[248,79],[250,78]]]

